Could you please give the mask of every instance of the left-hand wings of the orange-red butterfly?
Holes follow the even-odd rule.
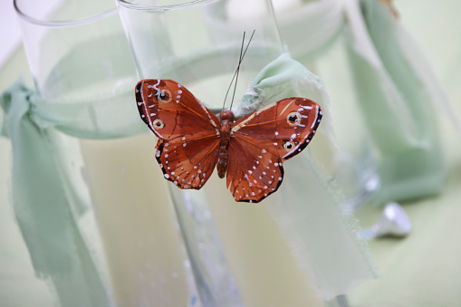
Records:
[[[136,86],[139,115],[158,137],[164,177],[180,188],[203,187],[216,166],[220,122],[190,91],[171,80]]]

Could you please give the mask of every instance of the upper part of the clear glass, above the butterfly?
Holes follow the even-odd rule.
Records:
[[[270,1],[119,1],[140,77],[172,79],[220,110],[244,32],[255,30],[235,97],[283,52]]]

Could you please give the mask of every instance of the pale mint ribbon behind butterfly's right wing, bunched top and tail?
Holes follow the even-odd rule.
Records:
[[[320,79],[293,60],[288,53],[280,55],[257,74],[243,97],[238,114],[256,109],[286,97],[300,96],[321,104],[320,130],[324,133],[325,153],[332,146],[331,116],[328,95]],[[320,139],[316,135],[312,142]],[[315,284],[318,295],[331,300],[351,291],[375,276],[366,243],[360,238],[360,227],[353,216],[341,212],[341,192],[331,178],[323,174],[319,159],[305,149],[298,157],[283,163],[283,185],[278,193],[264,199],[283,239],[290,246],[300,267]]]

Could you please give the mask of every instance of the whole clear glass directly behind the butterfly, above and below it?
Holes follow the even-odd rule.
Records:
[[[179,82],[214,112],[225,104],[244,32],[245,43],[253,31],[255,35],[240,67],[235,98],[283,53],[269,0],[119,0],[118,5],[141,79]],[[150,138],[153,149],[157,139]],[[151,163],[157,164],[153,156]],[[180,226],[198,270],[202,300],[214,297],[215,305],[228,305],[219,303],[216,293],[232,293],[233,278],[245,306],[322,304],[264,205],[235,203],[216,173],[199,191],[180,190],[169,182],[168,190],[184,221]],[[210,290],[215,294],[207,295]]]

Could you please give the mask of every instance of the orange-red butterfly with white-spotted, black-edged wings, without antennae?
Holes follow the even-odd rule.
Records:
[[[158,137],[163,176],[177,187],[200,189],[216,167],[238,202],[258,203],[274,193],[283,162],[311,142],[322,119],[320,105],[300,97],[235,120],[231,110],[216,116],[172,80],[142,80],[135,91],[140,117]]]

